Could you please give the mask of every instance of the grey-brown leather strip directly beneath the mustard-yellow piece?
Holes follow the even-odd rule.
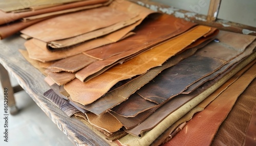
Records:
[[[141,86],[153,80],[159,72],[163,69],[168,68],[177,64],[184,58],[187,58],[193,55],[198,48],[203,47],[208,42],[203,43],[202,45],[186,50],[185,52],[178,54],[167,60],[163,65],[152,68],[151,71],[146,72],[145,74],[139,76],[136,80],[132,80],[129,84],[125,84],[120,88],[113,90],[112,92],[106,93],[103,97],[98,99],[92,104],[85,105],[84,108],[90,110],[91,112],[99,115],[100,113],[109,110],[110,108],[122,103],[125,101],[131,94],[133,94],[136,90],[138,90]],[[129,89],[129,90],[127,90]],[[101,107],[101,108],[97,108]]]

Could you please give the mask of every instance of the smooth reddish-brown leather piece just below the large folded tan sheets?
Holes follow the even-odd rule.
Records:
[[[182,23],[182,21],[184,20],[163,14],[159,18],[155,18],[154,21],[147,20],[143,25],[138,26],[135,30],[136,35],[132,37],[84,53],[90,57],[104,60],[111,56],[129,51],[132,48],[140,48],[140,50],[143,50],[156,43],[182,34],[196,25],[192,22],[186,22],[187,25],[185,25],[185,27],[177,29],[177,23]]]

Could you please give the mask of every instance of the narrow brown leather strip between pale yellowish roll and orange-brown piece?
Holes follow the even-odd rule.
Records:
[[[186,121],[190,120],[193,115],[196,112],[202,111],[211,101],[213,101],[214,99],[217,98],[217,96],[223,92],[226,88],[228,88],[228,86],[230,84],[232,84],[233,82],[235,82],[248,68],[250,68],[253,64],[255,63],[255,61],[250,62],[248,65],[246,65],[245,67],[239,67],[242,68],[241,70],[239,70],[234,76],[232,76],[228,81],[226,81],[221,87],[219,87],[216,91],[214,91],[212,94],[210,94],[204,101],[203,104],[199,104],[197,105],[195,108],[193,108],[192,110],[190,110],[187,114],[185,114],[182,118],[180,118],[178,121],[176,121],[176,123],[174,123],[172,126],[170,126],[165,132],[163,132],[161,134],[161,136],[159,136],[152,144],[155,145],[160,145],[161,143],[166,143],[169,140],[171,140],[174,136],[169,137],[170,133],[172,133],[176,127],[178,127],[180,124],[182,123],[186,123]],[[191,94],[191,93],[190,93]],[[189,95],[189,94],[188,94]],[[167,137],[167,138],[166,138]],[[166,143],[168,144],[168,143]]]

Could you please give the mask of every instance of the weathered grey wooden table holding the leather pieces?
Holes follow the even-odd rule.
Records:
[[[12,114],[17,112],[13,91],[6,70],[17,80],[18,84],[31,96],[35,103],[44,111],[54,124],[74,143],[74,145],[110,145],[104,139],[95,134],[80,120],[67,116],[63,111],[48,101],[43,93],[50,89],[44,81],[45,76],[34,68],[18,52],[26,50],[25,40],[18,35],[0,41],[0,71],[3,88],[8,88],[9,107]],[[6,70],[5,70],[6,69]],[[15,87],[14,91],[20,90]],[[21,119],[22,120],[22,119]]]

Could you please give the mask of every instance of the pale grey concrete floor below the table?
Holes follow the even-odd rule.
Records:
[[[12,85],[17,85],[11,76]],[[0,85],[0,145],[73,145],[25,91],[15,93],[17,115],[9,114],[8,142],[4,141],[4,92]]]

